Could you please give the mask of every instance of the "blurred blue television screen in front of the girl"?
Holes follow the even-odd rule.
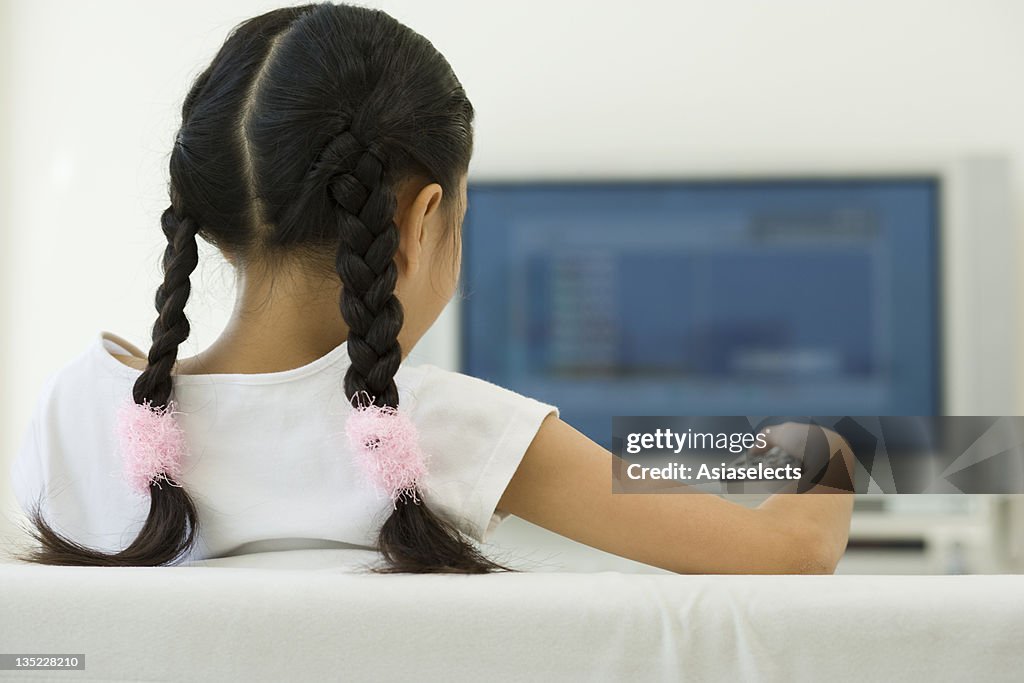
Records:
[[[615,415],[937,415],[938,182],[470,183],[463,371]]]

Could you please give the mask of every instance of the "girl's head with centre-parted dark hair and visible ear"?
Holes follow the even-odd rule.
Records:
[[[473,108],[433,45],[377,10],[269,12],[232,33],[181,118],[178,215],[252,278],[298,269],[366,292],[381,273],[372,293],[394,293],[404,325],[394,301],[368,303],[408,352],[455,288],[473,143]]]

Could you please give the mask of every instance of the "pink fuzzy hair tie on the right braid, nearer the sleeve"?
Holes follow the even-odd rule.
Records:
[[[419,502],[417,488],[427,473],[427,456],[408,415],[390,405],[357,405],[348,416],[345,433],[364,476],[387,494],[393,506],[403,496]]]

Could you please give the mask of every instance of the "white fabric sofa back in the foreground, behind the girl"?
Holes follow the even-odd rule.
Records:
[[[85,672],[32,677],[79,681],[1019,681],[1024,671],[1019,575],[355,572],[374,559],[299,550],[177,567],[0,565],[0,650],[85,653]]]

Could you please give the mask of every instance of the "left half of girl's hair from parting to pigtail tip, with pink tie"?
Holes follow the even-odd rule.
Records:
[[[170,157],[171,206],[161,216],[167,240],[157,322],[145,370],[118,414],[125,479],[150,497],[138,536],[117,553],[103,553],[59,535],[43,518],[42,501],[30,507],[27,529],[37,548],[18,554],[43,564],[152,566],[173,563],[196,544],[197,506],[178,480],[184,433],[176,424],[172,372],[190,331],[185,304],[199,262],[200,227],[211,244],[243,254],[254,241],[248,224],[252,198],[238,121],[274,40],[311,6],[287,7],[248,19],[230,33],[216,57],[194,81],[181,108],[181,127]],[[34,528],[33,528],[34,526]]]

